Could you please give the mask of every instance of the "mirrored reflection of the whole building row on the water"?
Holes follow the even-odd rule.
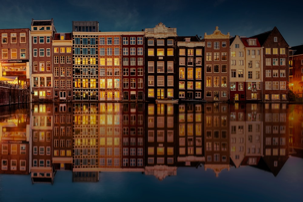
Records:
[[[302,157],[302,105],[280,103],[32,103],[2,107],[1,173],[55,182],[96,182],[100,172],[141,172],[158,180],[178,167],[219,176],[256,167],[277,176]]]

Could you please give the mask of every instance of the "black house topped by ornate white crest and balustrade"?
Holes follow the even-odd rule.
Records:
[[[178,99],[176,28],[159,23],[145,29],[145,100]]]

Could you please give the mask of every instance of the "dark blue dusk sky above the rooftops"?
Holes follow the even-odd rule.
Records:
[[[302,1],[184,0],[0,0],[0,29],[30,28],[31,20],[53,18],[57,32],[71,32],[72,21],[98,21],[100,31],[141,31],[159,22],[178,36],[223,34],[250,37],[275,26],[289,46],[303,44]],[[5,5],[5,6],[4,6]]]

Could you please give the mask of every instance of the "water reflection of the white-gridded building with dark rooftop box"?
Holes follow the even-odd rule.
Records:
[[[100,103],[105,104],[105,103]],[[98,103],[74,104],[73,181],[98,181]],[[100,112],[102,106],[100,106]],[[103,111],[102,111],[103,113]],[[100,115],[101,116],[101,115]],[[100,122],[103,119],[100,117]],[[112,119],[110,120],[112,121]],[[100,134],[105,131],[100,127]],[[100,145],[103,143],[100,138]],[[101,154],[101,151],[100,151]],[[100,160],[101,161],[101,160]],[[101,162],[100,162],[101,164]]]

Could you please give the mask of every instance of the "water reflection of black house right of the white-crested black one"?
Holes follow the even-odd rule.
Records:
[[[205,161],[203,111],[203,104],[179,104],[178,165],[196,166]]]

